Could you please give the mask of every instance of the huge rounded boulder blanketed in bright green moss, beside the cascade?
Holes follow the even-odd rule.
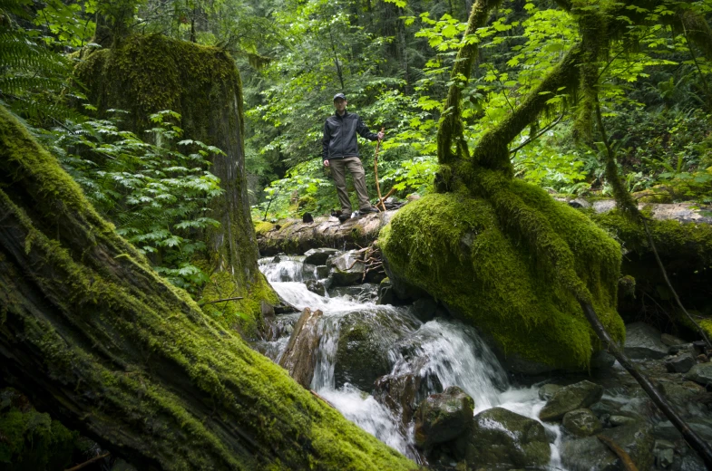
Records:
[[[620,248],[575,209],[538,187],[509,188],[561,235],[576,273],[614,339],[625,336],[615,310]],[[599,341],[551,265],[503,229],[492,205],[461,194],[428,195],[401,209],[381,231],[391,280],[431,293],[487,334],[511,370],[585,369]]]

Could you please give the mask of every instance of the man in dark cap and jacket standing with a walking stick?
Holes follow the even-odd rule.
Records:
[[[378,208],[371,206],[366,190],[366,172],[358,158],[358,143],[356,142],[356,132],[364,139],[381,140],[384,138],[383,131],[375,134],[368,130],[364,121],[356,113],[346,111],[346,95],[336,93],[334,95],[334,108],[336,112],[327,118],[324,123],[324,151],[322,159],[324,167],[331,168],[334,176],[334,185],[338,201],[341,203],[341,215],[339,221],[344,222],[351,217],[351,200],[346,191],[346,170],[354,178],[356,196],[358,197],[359,213],[377,213]]]

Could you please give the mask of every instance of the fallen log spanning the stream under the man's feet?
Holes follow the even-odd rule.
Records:
[[[311,248],[333,247],[349,250],[365,247],[378,238],[378,231],[388,224],[396,210],[368,214],[340,223],[336,217],[316,217],[314,222],[296,219],[277,224],[258,223],[257,242],[262,256],[285,253],[303,255]]]

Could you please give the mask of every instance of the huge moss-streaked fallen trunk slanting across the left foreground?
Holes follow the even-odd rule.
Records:
[[[0,378],[140,469],[414,469],[200,311],[0,107]]]

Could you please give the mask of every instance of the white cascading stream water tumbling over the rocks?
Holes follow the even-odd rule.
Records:
[[[510,388],[499,361],[473,328],[444,319],[421,322],[408,307],[376,305],[375,296],[369,296],[367,287],[356,296],[337,295],[334,291],[332,297],[312,293],[303,282],[317,279],[317,268],[304,264],[304,259],[304,256],[278,255],[261,259],[259,267],[285,301],[298,309],[308,307],[324,312],[311,389],[356,425],[406,456],[417,457],[412,424],[404,427],[401,418],[374,396],[354,384],[337,381],[336,350],[341,328],[352,322],[354,316],[359,322],[370,323],[373,329],[369,332],[377,337],[376,341],[389,346],[386,349],[389,376],[412,375],[420,379],[418,399],[458,386],[474,399],[475,413],[499,406],[537,418],[544,405],[537,389]],[[370,293],[375,293],[375,289]],[[258,350],[278,361],[287,347],[291,325],[297,319],[298,314],[278,316],[271,340],[259,342]],[[558,451],[561,431],[549,424],[544,427],[557,437],[551,446],[550,466],[561,469]]]

